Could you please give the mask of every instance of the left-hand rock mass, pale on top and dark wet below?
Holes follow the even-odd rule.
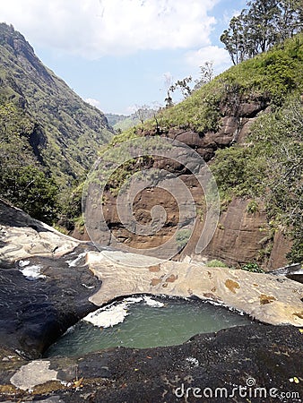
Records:
[[[92,247],[4,201],[0,223],[0,344],[36,358],[96,309],[100,281],[81,259]]]

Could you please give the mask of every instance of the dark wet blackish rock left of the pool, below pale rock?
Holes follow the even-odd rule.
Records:
[[[100,281],[79,261],[82,247],[62,259],[43,257],[0,267],[0,343],[24,356],[40,356],[65,330],[96,309],[89,297]],[[75,263],[76,264],[76,263]],[[40,268],[41,278],[25,277],[24,268]],[[25,272],[27,274],[27,272]]]

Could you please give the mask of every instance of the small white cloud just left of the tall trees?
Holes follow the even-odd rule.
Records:
[[[186,53],[186,63],[196,69],[205,62],[211,61],[213,61],[213,69],[216,74],[231,65],[229,52],[222,47],[207,46]]]

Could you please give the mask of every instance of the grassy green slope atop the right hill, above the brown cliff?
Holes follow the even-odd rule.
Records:
[[[176,106],[162,108],[143,128],[157,133],[166,133],[171,127],[191,129],[201,135],[216,132],[221,127],[221,118],[228,113],[237,116],[238,107],[247,99],[281,107],[290,93],[303,90],[302,69],[301,33],[229,68]],[[134,133],[134,129],[127,133]]]

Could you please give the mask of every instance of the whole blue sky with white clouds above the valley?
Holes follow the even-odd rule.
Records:
[[[230,65],[220,42],[245,0],[0,0],[43,64],[105,113],[162,106],[168,82],[213,62]],[[178,101],[179,99],[174,99]]]

